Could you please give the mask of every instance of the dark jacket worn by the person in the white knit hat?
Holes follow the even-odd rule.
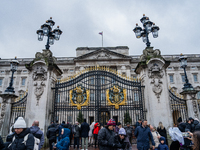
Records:
[[[26,141],[26,144],[24,144],[24,137],[28,135],[28,139]],[[20,134],[14,133],[12,135],[12,139],[15,136],[15,140],[12,142],[11,145],[8,147],[9,150],[33,150],[34,148],[34,137],[32,134],[30,134],[30,129],[27,128],[24,131],[22,131]]]

